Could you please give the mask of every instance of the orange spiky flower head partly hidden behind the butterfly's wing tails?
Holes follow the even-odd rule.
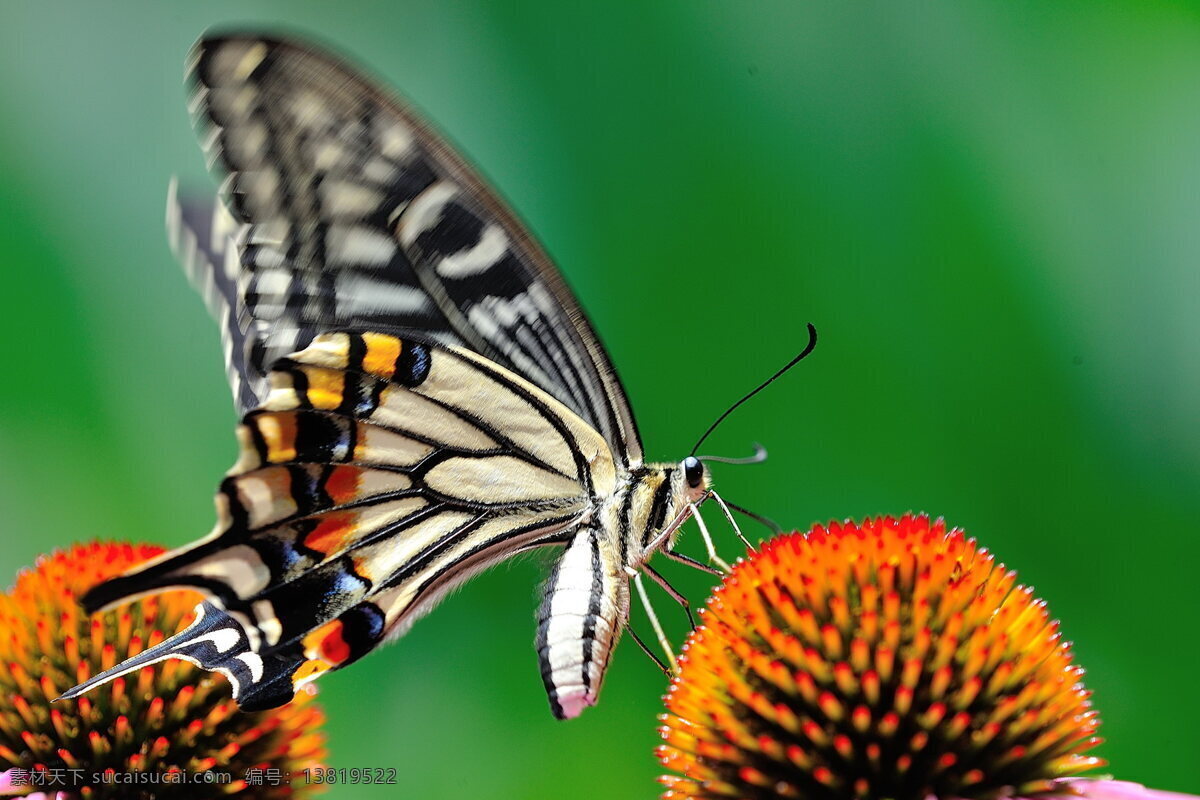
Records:
[[[299,772],[324,754],[324,715],[308,694],[281,709],[240,712],[224,678],[172,660],[52,704],[190,620],[193,593],[151,596],[90,618],[79,608],[84,591],[162,552],[78,545],[42,557],[0,595],[0,770],[10,783],[38,771],[29,792],[52,796],[304,796],[314,787]],[[113,782],[94,780],[106,771]],[[290,784],[282,780],[289,771]]]

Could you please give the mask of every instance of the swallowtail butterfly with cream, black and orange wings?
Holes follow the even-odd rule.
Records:
[[[196,589],[194,621],[64,697],[185,658],[223,673],[244,710],[272,708],[470,576],[553,546],[536,651],[554,716],[577,716],[631,581],[668,587],[650,557],[703,567],[673,543],[714,497],[708,468],[644,462],[557,269],[406,104],[257,35],[202,40],[187,74],[223,201],[173,186],[168,231],[221,324],[240,455],[208,537],[83,597],[95,612]]]

